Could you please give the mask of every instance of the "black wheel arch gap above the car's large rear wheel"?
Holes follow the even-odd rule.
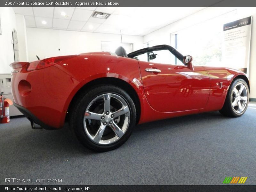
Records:
[[[141,114],[141,102],[140,102],[140,98],[138,96],[138,93],[135,91],[135,89],[132,87],[131,84],[129,84],[128,82],[120,79],[120,78],[116,78],[116,77],[101,77],[101,78],[97,78],[94,79],[86,84],[84,84],[73,96],[73,98],[71,99],[69,105],[68,105],[68,110],[71,108],[71,106],[73,105],[73,103],[75,102],[76,98],[79,97],[80,94],[82,94],[83,92],[85,92],[86,90],[100,85],[100,84],[111,84],[111,85],[116,85],[122,89],[124,89],[124,91],[126,91],[130,97],[132,98],[132,100],[134,101],[135,104],[135,108],[136,108],[136,124],[138,124],[138,122],[140,121],[140,114]],[[65,121],[67,121],[69,119],[69,113],[67,113],[66,117],[65,117]]]

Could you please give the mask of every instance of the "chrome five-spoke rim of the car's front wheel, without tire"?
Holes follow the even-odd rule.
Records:
[[[234,111],[238,114],[242,113],[248,100],[248,92],[243,83],[238,83],[235,85],[231,99]]]

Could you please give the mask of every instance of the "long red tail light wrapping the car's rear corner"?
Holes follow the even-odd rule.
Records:
[[[47,67],[57,64],[58,62],[60,62],[62,60],[70,59],[70,58],[76,57],[76,56],[77,55],[51,57],[51,58],[47,58],[47,59],[43,59],[43,60],[34,61],[34,62],[29,63],[27,71],[33,71],[33,70],[47,68]]]

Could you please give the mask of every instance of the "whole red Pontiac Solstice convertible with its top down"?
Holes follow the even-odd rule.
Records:
[[[153,62],[161,51],[181,64]],[[68,121],[77,138],[96,151],[121,146],[136,124],[216,110],[243,115],[250,91],[245,74],[191,61],[169,45],[157,45],[128,55],[119,47],[115,53],[15,62],[14,105],[32,128],[60,129]]]

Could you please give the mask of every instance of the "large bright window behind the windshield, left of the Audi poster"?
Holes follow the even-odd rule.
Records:
[[[211,20],[182,29],[171,35],[175,48],[193,57],[193,65],[222,66],[223,24],[230,20],[234,12],[229,12]],[[181,61],[172,58],[175,64]]]

